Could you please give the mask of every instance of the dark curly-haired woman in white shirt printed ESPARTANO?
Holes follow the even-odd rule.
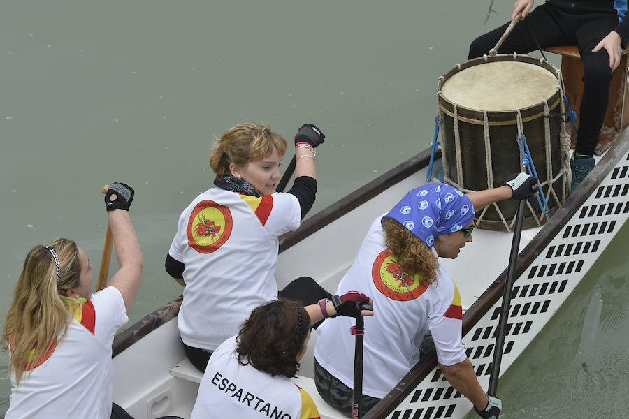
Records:
[[[367,300],[361,296],[362,302]],[[352,308],[335,311],[330,307],[328,314],[373,314],[361,312],[356,304]],[[273,300],[254,309],[238,336],[230,337],[212,353],[191,418],[319,418],[310,395],[290,379],[297,374],[308,339],[310,315],[301,303]]]

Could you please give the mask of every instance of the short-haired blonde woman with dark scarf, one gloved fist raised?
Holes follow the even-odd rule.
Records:
[[[331,294],[314,280],[302,277],[278,291],[274,277],[278,237],[298,228],[315,202],[315,147],[324,139],[312,124],[298,129],[295,181],[287,193],[276,191],[287,142],[270,126],[243,122],[212,149],[216,187],[182,212],[166,257],[166,272],[185,286],[178,325],[199,370],[255,307],[278,295],[303,304],[321,300],[324,311]]]

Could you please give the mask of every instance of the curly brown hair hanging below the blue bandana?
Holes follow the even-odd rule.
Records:
[[[439,261],[435,253],[419,237],[411,233],[398,221],[385,218],[382,221],[384,244],[391,255],[398,259],[405,274],[421,275],[421,284],[428,285],[437,280]]]

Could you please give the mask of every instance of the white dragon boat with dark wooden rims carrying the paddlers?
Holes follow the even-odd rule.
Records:
[[[501,374],[570,296],[626,222],[628,152],[629,131],[625,131],[546,223],[522,231]],[[352,264],[370,223],[390,210],[407,191],[426,183],[431,154],[435,157],[433,170],[438,170],[440,152],[431,153],[428,148],[306,219],[298,230],[283,235],[275,273],[278,286],[282,288],[292,279],[308,275],[334,291]],[[484,388],[489,381],[512,235],[507,230],[477,229],[473,242],[456,260],[442,261],[461,293],[463,342]],[[487,257],[489,249],[491,258]],[[293,261],[300,254],[317,254],[317,258],[301,258],[296,265]],[[202,374],[183,352],[176,318],[181,302],[182,297],[175,298],[115,338],[113,400],[134,418],[189,418],[191,414]],[[315,399],[321,418],[344,418],[315,389],[312,353],[316,339],[315,330],[294,381]],[[471,408],[468,399],[446,381],[433,352],[364,417],[462,418]]]

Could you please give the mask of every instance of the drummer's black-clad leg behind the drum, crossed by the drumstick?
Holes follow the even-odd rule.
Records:
[[[507,22],[472,41],[468,59],[489,54],[489,50],[496,46],[500,36],[503,36],[508,26],[509,23]],[[537,50],[537,43],[540,43],[542,48],[575,43],[574,37],[565,29],[561,14],[558,14],[557,10],[548,5],[537,6],[525,20],[516,24],[503,45],[498,48],[498,54],[512,52],[528,54],[528,52]],[[535,38],[533,38],[533,34],[535,34]],[[537,39],[537,43],[535,39]]]

